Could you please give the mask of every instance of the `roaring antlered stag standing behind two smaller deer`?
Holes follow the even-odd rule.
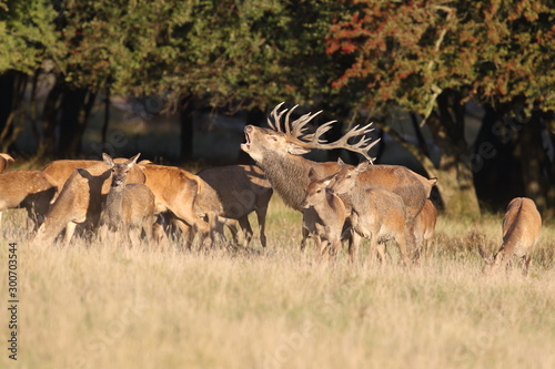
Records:
[[[337,173],[340,167],[337,163],[316,163],[301,155],[313,148],[345,148],[371,160],[367,151],[377,141],[370,143],[371,139],[363,137],[356,143],[347,143],[351,137],[372,131],[369,124],[364,127],[353,127],[336,142],[325,143],[322,135],[332,127],[335,121],[321,125],[313,134],[307,134],[304,132],[306,125],[320,112],[302,115],[290,123],[290,116],[296,106],[289,112],[287,110],[278,112],[282,104],[276,105],[271,113],[273,123],[270,119],[268,120],[271,129],[245,126],[246,142],[241,144],[241,148],[264,171],[272,187],[284,203],[295,211],[303,212],[301,204],[304,191],[310,183],[309,172],[312,170],[316,177],[324,178]],[[285,119],[282,127],[283,116]],[[360,174],[360,183],[364,188],[384,188],[401,196],[406,206],[407,228],[414,242],[414,235],[412,235],[414,221],[430,196],[435,181],[426,180],[404,166],[370,165],[364,173]],[[345,205],[349,207],[346,203]]]

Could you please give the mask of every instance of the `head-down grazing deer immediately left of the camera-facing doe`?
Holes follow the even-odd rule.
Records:
[[[115,158],[124,163],[125,158]],[[49,243],[65,228],[65,244],[69,244],[78,224],[95,229],[100,219],[102,204],[110,191],[112,171],[103,162],[84,168],[77,168],[63,184],[54,203],[50,206],[44,223],[40,226],[38,239]],[[135,165],[131,168],[128,182],[144,183],[145,177]]]

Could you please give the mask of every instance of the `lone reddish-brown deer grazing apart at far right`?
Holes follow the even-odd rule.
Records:
[[[494,256],[487,256],[482,246],[478,252],[485,262],[482,271],[486,275],[506,267],[513,256],[522,258],[523,275],[528,274],[532,252],[542,229],[542,216],[536,204],[526,197],[511,201],[503,218],[503,245]]]

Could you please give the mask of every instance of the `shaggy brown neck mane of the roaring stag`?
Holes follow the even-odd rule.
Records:
[[[327,175],[326,163],[316,163],[295,155],[270,154],[259,165],[285,205],[299,212],[303,212],[301,203],[310,183],[310,170],[313,168],[320,177]]]

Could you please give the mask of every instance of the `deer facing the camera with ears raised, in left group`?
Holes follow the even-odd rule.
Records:
[[[125,163],[114,163],[108,154],[102,154],[104,164],[112,171],[110,192],[101,215],[101,223],[112,232],[123,232],[132,245],[140,242],[141,229],[147,242],[151,242],[154,223],[154,194],[142,183],[128,182],[129,171],[137,164],[139,155]]]

